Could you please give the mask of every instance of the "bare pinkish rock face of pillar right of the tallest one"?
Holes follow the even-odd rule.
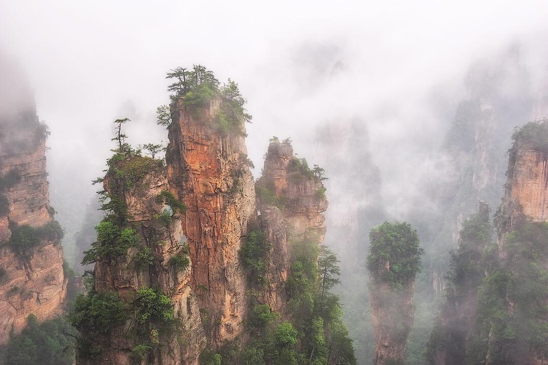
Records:
[[[322,242],[326,234],[325,189],[320,179],[306,176],[289,142],[272,141],[263,176],[256,182],[262,230],[271,243],[262,301],[277,312],[286,311],[284,282],[290,268],[292,242]]]

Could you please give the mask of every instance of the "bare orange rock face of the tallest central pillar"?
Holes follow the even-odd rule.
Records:
[[[197,113],[186,111],[181,100],[173,104],[166,155],[170,186],[187,206],[182,227],[196,268],[191,285],[214,345],[243,332],[247,279],[238,250],[255,216],[243,136],[223,136],[207,123],[219,103],[214,99]]]

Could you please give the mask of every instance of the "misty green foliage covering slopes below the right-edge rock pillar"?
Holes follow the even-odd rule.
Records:
[[[548,351],[548,270],[540,264],[548,253],[548,223],[517,217],[512,225],[502,246],[491,243],[488,215],[472,215],[463,225],[443,321],[437,321],[427,347],[430,363],[436,351],[471,364],[487,356],[496,364],[527,362]],[[458,320],[459,312],[470,312],[470,298],[476,303],[471,329]]]

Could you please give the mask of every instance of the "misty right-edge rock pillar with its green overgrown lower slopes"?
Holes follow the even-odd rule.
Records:
[[[452,253],[447,304],[430,338],[432,364],[548,363],[548,124],[528,123],[512,138],[494,227],[472,216]]]

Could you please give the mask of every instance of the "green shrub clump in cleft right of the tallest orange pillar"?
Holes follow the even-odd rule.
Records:
[[[266,285],[266,254],[270,250],[270,242],[262,230],[250,231],[246,242],[239,250],[244,265],[251,271],[254,282]]]

